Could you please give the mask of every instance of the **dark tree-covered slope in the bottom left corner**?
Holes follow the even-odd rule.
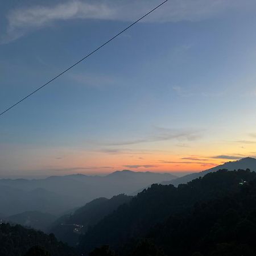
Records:
[[[0,255],[76,256],[77,254],[71,247],[58,242],[53,234],[48,236],[20,225],[0,224]]]

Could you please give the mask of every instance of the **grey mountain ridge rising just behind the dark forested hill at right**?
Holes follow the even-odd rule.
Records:
[[[208,170],[202,171],[202,172],[196,172],[194,174],[188,174],[182,177],[179,177],[177,179],[173,179],[171,181],[164,181],[162,184],[168,185],[173,184],[175,186],[179,184],[185,184],[193,179],[197,179],[198,177],[203,177],[206,174],[209,174],[209,172],[216,172],[221,169],[226,169],[228,171],[233,170],[246,170],[250,169],[251,171],[256,171],[256,159],[255,158],[242,158],[237,161],[227,162],[224,164],[221,164],[220,166],[216,166],[213,168],[210,168]]]

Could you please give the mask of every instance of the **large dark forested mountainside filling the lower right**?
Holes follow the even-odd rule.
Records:
[[[232,213],[234,217],[225,217],[229,208],[238,211],[236,221],[233,219],[236,213]],[[247,220],[253,220],[253,224],[243,224]],[[240,241],[235,235],[244,238]],[[217,250],[215,241],[222,243],[220,247],[232,249],[233,243],[241,247],[248,243],[254,248],[253,254],[245,251],[243,255],[255,255],[255,242],[250,242],[255,236],[256,173],[221,170],[177,188],[152,185],[89,229],[80,239],[79,250],[86,254],[97,246],[110,245],[119,255],[162,255],[132,253],[139,240],[152,238],[166,255],[192,255],[200,250],[203,254],[195,255],[233,255],[223,251],[210,254]],[[125,254],[126,250],[129,253]]]

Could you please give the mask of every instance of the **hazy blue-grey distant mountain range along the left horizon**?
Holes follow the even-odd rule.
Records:
[[[0,179],[1,211],[6,215],[35,210],[60,215],[98,197],[129,195],[152,183],[174,178],[171,174],[123,170],[106,176],[78,174],[32,180]]]

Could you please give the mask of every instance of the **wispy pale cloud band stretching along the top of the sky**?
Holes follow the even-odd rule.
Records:
[[[7,14],[6,34],[2,42],[10,42],[55,22],[72,19],[119,20],[131,22],[158,5],[160,0],[70,0],[57,5],[34,5],[11,10]],[[210,18],[245,5],[240,0],[172,0],[150,14],[144,22],[197,21]],[[247,3],[253,1],[246,0]]]

